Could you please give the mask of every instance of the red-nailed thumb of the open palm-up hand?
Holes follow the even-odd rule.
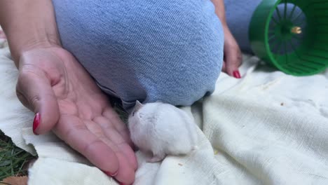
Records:
[[[45,72],[31,64],[20,67],[16,92],[20,102],[34,111],[34,134],[50,131],[60,114],[57,98]]]

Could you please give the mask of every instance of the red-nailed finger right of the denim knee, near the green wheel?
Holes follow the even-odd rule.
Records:
[[[230,76],[235,76],[235,73],[238,71],[238,67],[240,67],[242,62],[240,50],[238,47],[233,47],[226,50],[224,54],[226,55],[226,73]]]

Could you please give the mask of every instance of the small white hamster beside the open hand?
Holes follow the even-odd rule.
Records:
[[[142,152],[152,153],[154,163],[166,155],[187,154],[196,149],[196,123],[186,112],[161,102],[141,104],[137,101],[129,116],[132,142]]]

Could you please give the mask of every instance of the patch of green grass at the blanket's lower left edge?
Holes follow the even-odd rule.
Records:
[[[6,177],[27,174],[27,164],[33,158],[0,131],[0,181]]]

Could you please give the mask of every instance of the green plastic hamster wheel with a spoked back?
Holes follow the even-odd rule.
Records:
[[[249,33],[254,54],[286,74],[328,67],[328,0],[263,0]]]

